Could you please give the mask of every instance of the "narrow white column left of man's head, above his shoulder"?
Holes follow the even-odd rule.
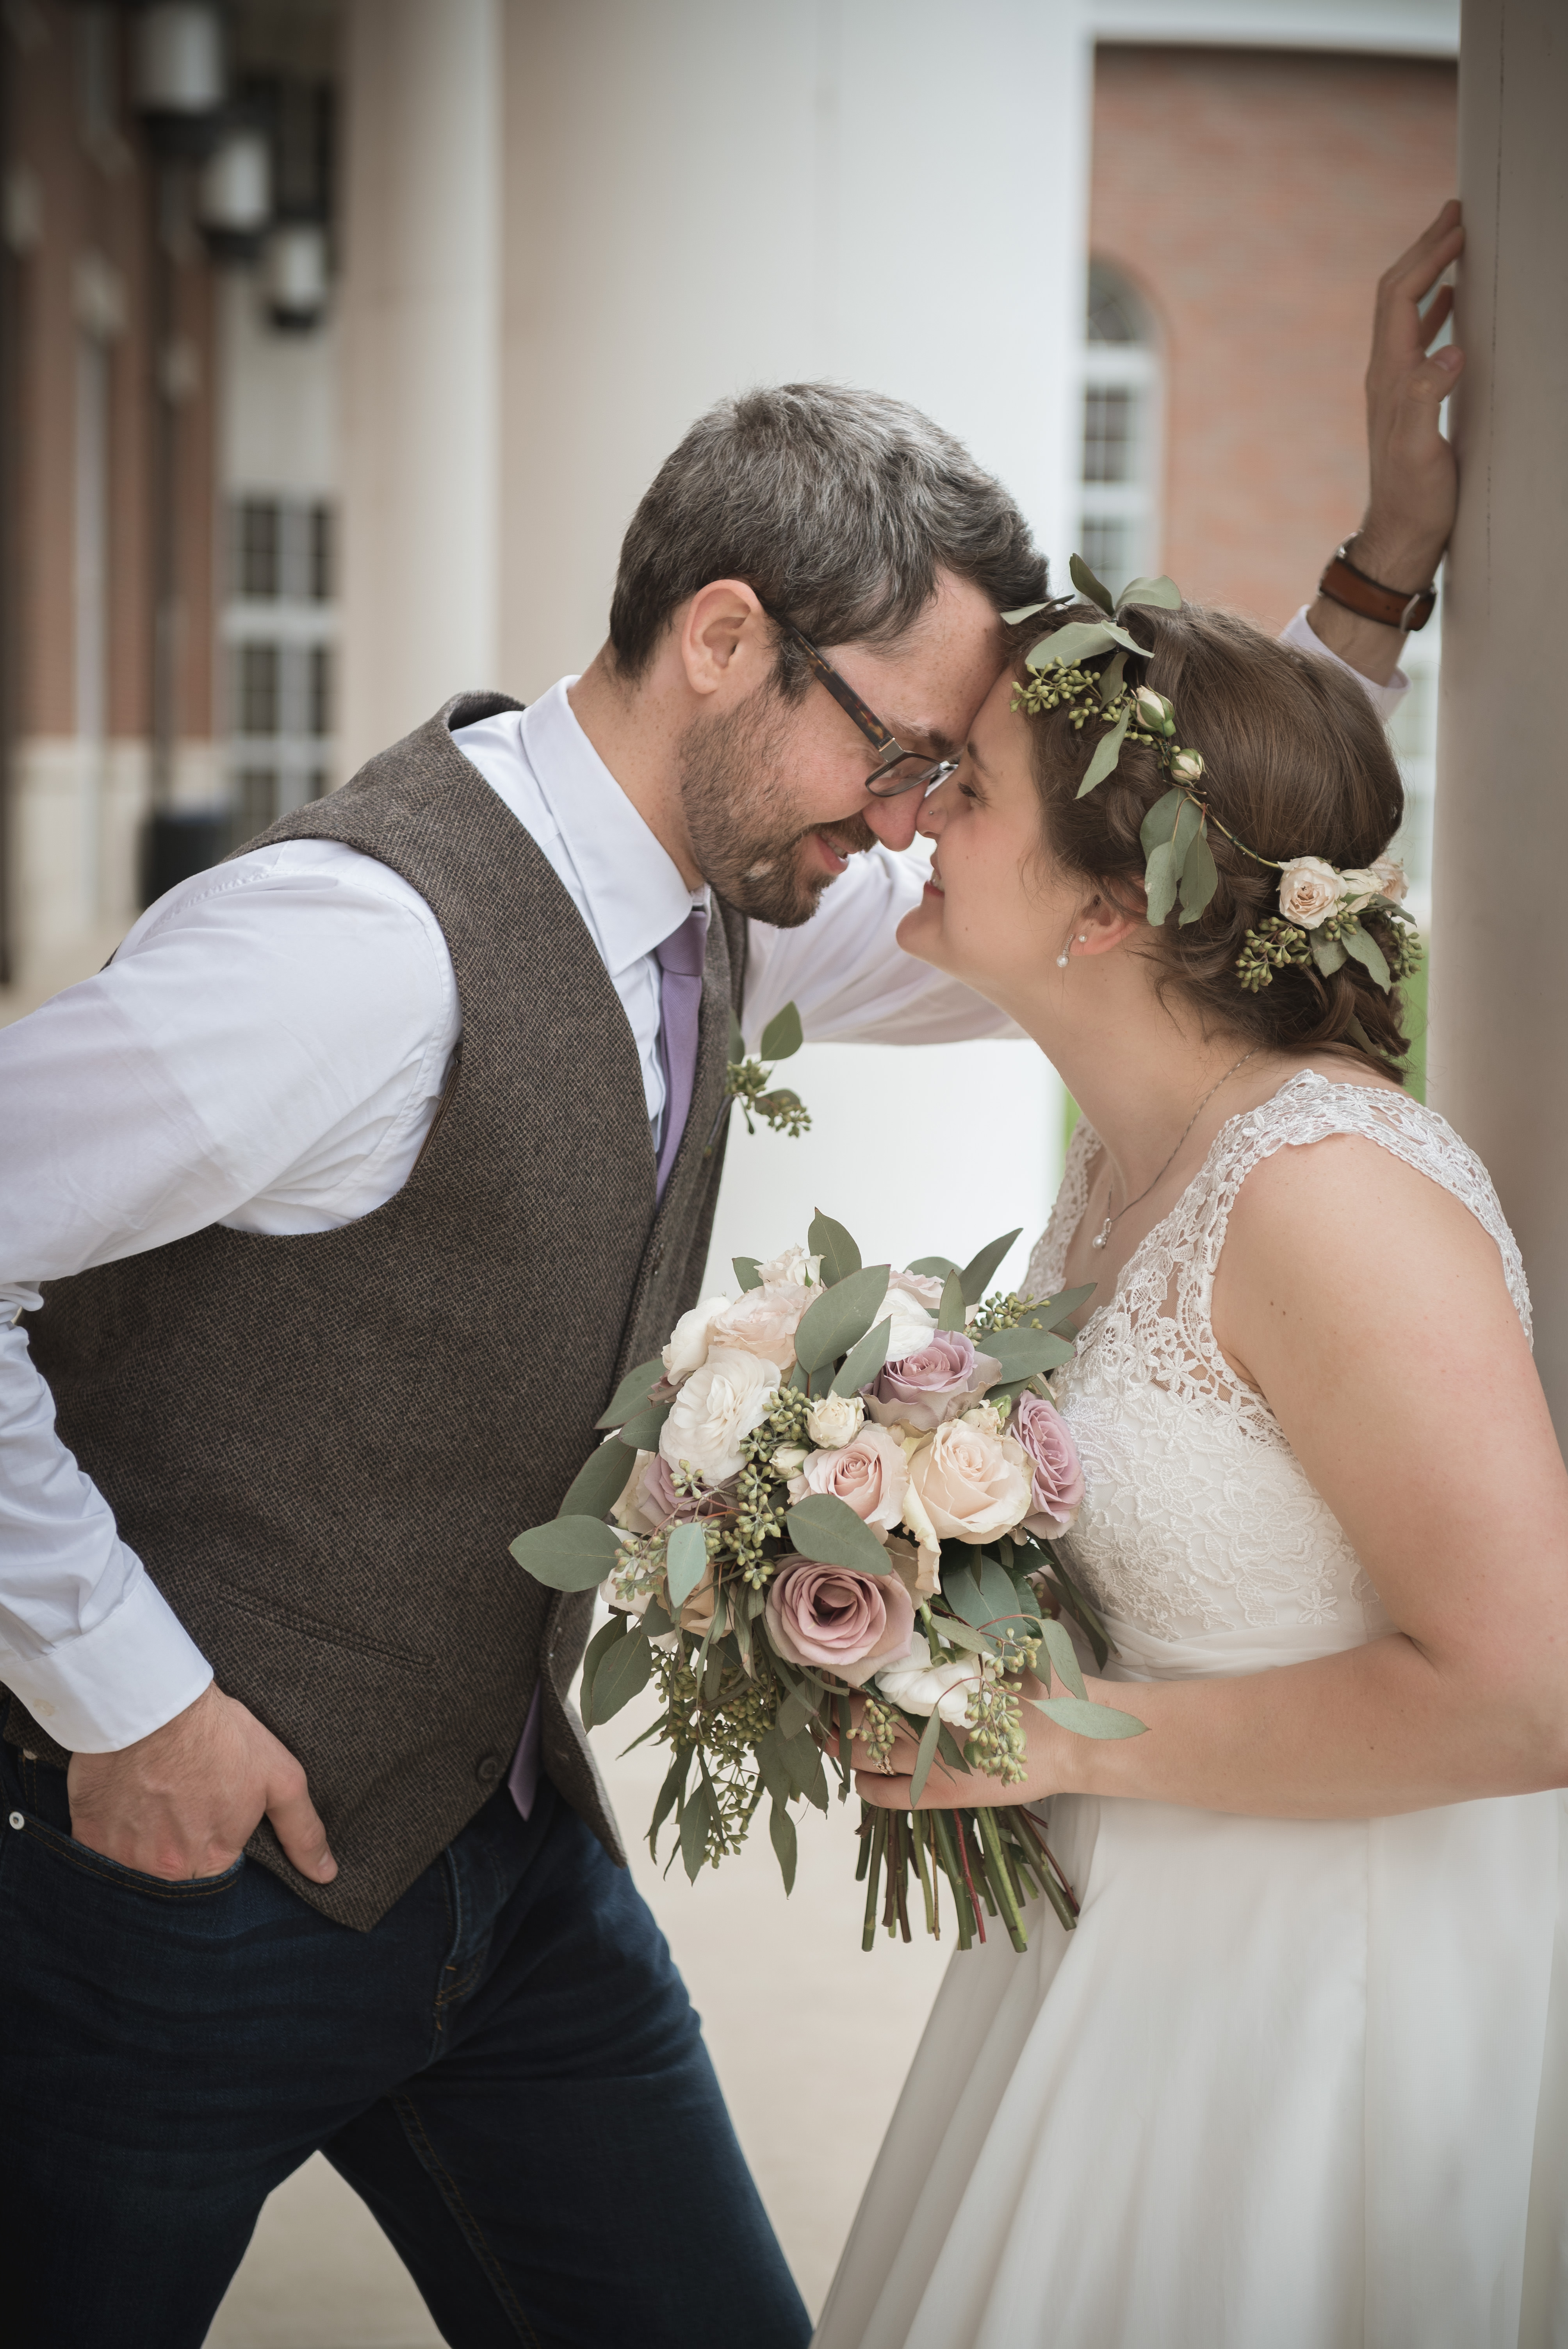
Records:
[[[495,684],[500,0],[350,0],[343,773]]]

